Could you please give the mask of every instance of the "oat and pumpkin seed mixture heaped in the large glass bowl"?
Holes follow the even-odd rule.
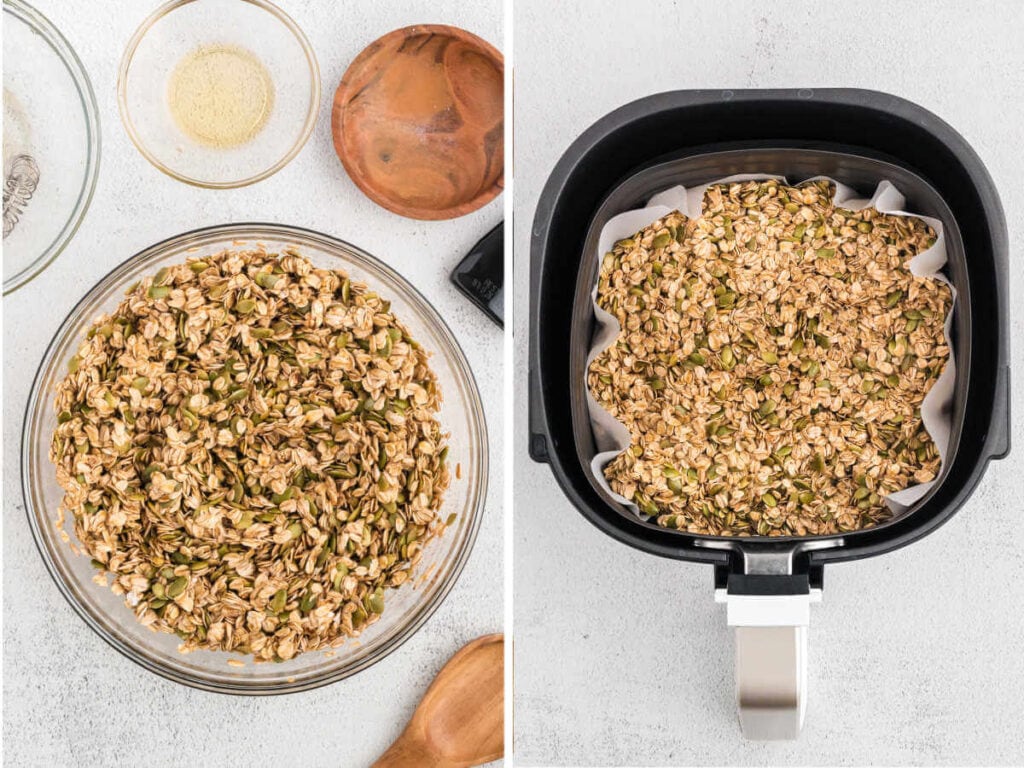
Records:
[[[427,353],[343,272],[289,251],[190,258],[133,287],[72,359],[60,514],[182,651],[337,646],[445,526],[439,404]]]

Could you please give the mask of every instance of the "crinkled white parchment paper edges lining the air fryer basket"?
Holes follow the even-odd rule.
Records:
[[[646,207],[626,211],[608,220],[608,222],[602,227],[601,234],[598,240],[597,263],[601,263],[601,259],[604,254],[610,251],[612,246],[617,241],[623,240],[624,238],[632,237],[640,229],[643,229],[664,216],[668,216],[673,211],[679,211],[687,218],[698,218],[702,216],[703,196],[709,186],[728,182],[765,179],[778,179],[783,183],[787,183],[783,177],[771,174],[740,174],[718,179],[717,181],[710,181],[707,184],[701,184],[700,186],[694,186],[691,188],[673,186],[669,189],[660,191],[647,202]],[[940,271],[946,263],[946,241],[944,227],[939,219],[904,211],[903,208],[906,204],[906,200],[899,189],[896,188],[895,184],[888,180],[881,181],[870,199],[864,200],[857,198],[856,193],[853,189],[845,184],[841,184],[835,179],[830,179],[825,176],[819,176],[817,179],[827,180],[835,185],[836,195],[834,202],[839,207],[851,211],[859,211],[863,208],[874,208],[881,213],[892,214],[895,216],[915,216],[916,218],[927,221],[936,232],[935,244],[928,250],[914,256],[907,263],[910,271],[915,275],[941,281],[949,286],[949,290],[952,294],[952,302],[949,307],[949,312],[946,314],[944,326],[946,344],[949,347],[949,358],[946,360],[945,368],[939,375],[938,380],[932,385],[932,388],[925,396],[921,406],[922,422],[925,426],[925,430],[935,442],[935,446],[939,452],[941,460],[939,464],[939,472],[936,474],[937,480],[937,478],[941,476],[942,469],[945,466],[946,452],[949,449],[949,433],[952,427],[952,396],[956,381],[954,350],[952,340],[949,335],[952,327],[953,312],[956,311],[956,290]],[[817,179],[808,180],[813,181]],[[586,371],[590,371],[590,365],[598,354],[614,343],[615,339],[618,337],[620,331],[622,330],[618,325],[618,321],[597,305],[597,282],[598,275],[595,274],[594,287],[591,291],[591,304],[594,310],[596,324],[594,335],[591,338],[590,352],[587,355]],[[590,412],[590,422],[594,431],[594,443],[597,446],[597,454],[591,461],[591,471],[594,473],[594,476],[597,478],[601,487],[603,487],[612,499],[629,509],[635,515],[639,517],[646,517],[646,515],[640,512],[639,508],[633,503],[632,500],[626,499],[625,497],[613,492],[611,486],[608,485],[607,479],[604,477],[604,468],[608,465],[608,463],[629,447],[629,430],[626,428],[626,425],[617,421],[611,416],[611,414],[598,404],[597,400],[595,400],[594,396],[590,393],[590,387],[586,387],[586,389],[587,408]],[[918,500],[924,497],[925,494],[928,493],[929,488],[935,484],[936,480],[931,480],[918,485],[911,485],[902,490],[890,494],[889,496],[884,497],[885,501],[889,505],[889,508],[892,509],[893,514],[895,516],[899,516]]]

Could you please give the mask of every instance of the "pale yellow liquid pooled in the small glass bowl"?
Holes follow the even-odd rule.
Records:
[[[237,45],[208,45],[171,73],[167,98],[178,127],[217,147],[244,144],[262,130],[273,106],[273,82],[263,62]]]

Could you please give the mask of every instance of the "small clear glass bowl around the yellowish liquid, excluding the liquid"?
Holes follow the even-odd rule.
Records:
[[[248,51],[272,83],[269,116],[245,143],[201,143],[171,114],[172,73],[207,46]],[[309,41],[267,0],[171,0],[136,30],[118,73],[121,120],[138,151],[169,176],[215,189],[252,184],[284,168],[309,138],[319,97],[319,67]]]

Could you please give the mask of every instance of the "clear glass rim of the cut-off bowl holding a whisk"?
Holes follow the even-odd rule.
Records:
[[[44,41],[53,49],[57,57],[61,60],[68,74],[71,75],[75,88],[78,91],[79,102],[82,112],[85,114],[86,127],[86,158],[85,174],[82,180],[82,187],[79,189],[78,199],[71,215],[65,225],[57,232],[53,242],[43,250],[28,266],[19,272],[3,282],[3,295],[14,293],[22,286],[31,283],[35,278],[53,263],[54,259],[60,255],[63,249],[71,243],[78,231],[78,227],[85,218],[89,204],[92,203],[92,195],[96,190],[96,181],[99,178],[99,156],[100,156],[100,131],[99,131],[99,108],[96,105],[96,94],[92,90],[92,82],[85,71],[82,59],[78,57],[75,49],[68,39],[60,34],[60,31],[53,26],[45,15],[40,13],[32,5],[24,0],[3,0],[4,10],[10,11],[14,16],[31,27]]]

